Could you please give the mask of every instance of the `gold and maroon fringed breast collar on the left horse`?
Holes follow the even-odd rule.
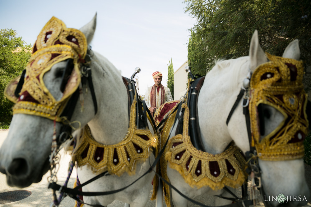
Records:
[[[86,125],[82,137],[77,145],[73,159],[78,166],[90,165],[96,173],[108,171],[110,174],[122,175],[127,172],[135,174],[136,163],[146,161],[156,147],[158,136],[152,135],[150,130],[138,129],[135,126],[136,99],[131,106],[128,133],[122,142],[104,145],[94,140],[90,128]]]

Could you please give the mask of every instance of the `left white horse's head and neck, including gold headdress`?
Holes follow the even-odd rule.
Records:
[[[52,17],[35,42],[19,96],[14,97],[18,79],[7,87],[7,97],[16,102],[0,149],[0,172],[7,175],[8,185],[27,187],[42,179],[50,168],[53,134],[54,145],[60,145],[87,123],[91,131],[103,129],[94,130],[95,137],[106,137],[107,144],[127,133],[128,99],[122,77],[88,47],[95,28],[96,15],[80,30]],[[122,122],[107,119],[111,113]]]

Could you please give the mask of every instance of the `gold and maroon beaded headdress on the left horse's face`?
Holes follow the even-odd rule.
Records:
[[[33,46],[18,98],[14,96],[14,92],[20,77],[7,85],[5,95],[16,103],[13,114],[39,115],[60,121],[59,116],[68,99],[81,82],[80,63],[84,62],[86,52],[85,35],[77,29],[67,28],[61,20],[52,17],[41,30]],[[74,68],[63,91],[63,97],[57,101],[45,86],[43,76],[54,64],[67,59],[73,59]]]

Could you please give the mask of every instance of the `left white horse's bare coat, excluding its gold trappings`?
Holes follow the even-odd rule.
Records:
[[[87,44],[91,43],[95,27],[96,15],[80,29],[86,37]],[[46,36],[46,38],[49,38],[49,36]],[[72,41],[76,42],[76,39],[72,39]],[[77,120],[82,127],[88,124],[96,142],[105,145],[117,144],[128,133],[129,107],[127,88],[123,83],[121,74],[112,63],[94,51],[90,52],[90,56],[91,63],[89,67],[92,71],[91,76],[98,111],[94,115],[95,106],[91,96],[91,88],[89,84],[86,84],[86,88],[82,89],[84,110],[81,111],[78,101],[70,121]],[[54,64],[43,76],[44,85],[57,101],[63,97],[60,85],[62,82],[61,74],[63,74],[65,67],[66,61],[60,61]],[[148,125],[151,133],[154,134],[149,121]],[[61,124],[57,122],[57,135],[59,134],[60,126]],[[49,170],[52,135],[53,120],[23,113],[13,115],[10,131],[0,150],[0,171],[7,175],[8,185],[27,187],[34,182],[40,182],[42,176]],[[133,171],[134,175],[130,176],[125,172],[120,177],[114,174],[104,176],[82,187],[82,190],[83,192],[112,191],[125,187],[145,173],[150,168],[149,163],[152,163],[154,160],[155,157],[151,153],[149,160],[137,162],[136,169]],[[81,183],[96,175],[88,165],[78,167],[77,174]],[[130,206],[144,207],[149,198],[153,177],[154,173],[148,173],[132,186],[115,194],[84,196],[84,202],[106,206],[114,200],[120,200],[125,202],[126,206],[129,204]]]

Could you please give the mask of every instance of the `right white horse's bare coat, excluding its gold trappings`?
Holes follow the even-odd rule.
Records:
[[[283,53],[283,57],[299,60],[300,51],[298,40],[293,41],[287,46]],[[207,73],[197,101],[198,123],[201,129],[202,144],[206,152],[213,155],[222,153],[232,141],[235,142],[244,154],[250,150],[245,116],[243,115],[243,107],[241,106],[242,100],[239,101],[238,106],[235,108],[228,125],[226,125],[226,119],[234,102],[237,100],[237,95],[245,79],[248,77],[249,72],[251,71],[253,75],[257,72],[260,73],[260,71],[255,71],[255,69],[258,65],[266,63],[267,61],[267,56],[259,45],[258,32],[256,30],[250,43],[249,56],[218,61],[213,69]],[[300,70],[300,73],[303,73],[303,68],[302,71]],[[270,75],[268,74],[267,77],[263,79],[272,78],[273,75],[276,77],[277,72]],[[282,78],[284,77],[282,76]],[[288,91],[289,90],[290,89],[288,89]],[[283,94],[285,93],[286,91],[283,91]],[[253,94],[251,94],[251,96],[252,95]],[[298,98],[296,97],[296,99]],[[297,100],[292,99],[292,101],[296,102]],[[285,119],[285,116],[287,116],[283,112],[281,113],[281,110],[277,109],[277,107],[273,107],[266,102],[262,103],[263,111],[258,110],[258,114],[262,115],[262,121],[264,121],[264,132],[260,135],[260,140],[272,133],[277,126],[283,123],[282,121]],[[305,102],[303,102],[302,105],[305,106],[304,104]],[[304,114],[304,123],[308,123],[305,120],[305,108],[303,109],[302,107],[300,110],[302,111],[301,113]],[[299,113],[299,111],[297,113]],[[172,132],[169,138],[175,135],[176,125],[171,129]],[[299,141],[301,141],[300,139],[302,138],[300,135],[298,137]],[[169,147],[172,146],[168,145],[167,148]],[[286,147],[286,145],[283,147]],[[261,159],[259,156],[262,200],[264,200],[265,205],[273,207],[289,204],[292,206],[301,206],[307,203],[309,199],[309,189],[304,178],[304,160],[301,158],[302,156],[300,154],[299,159],[292,157],[290,159],[276,159],[271,161],[263,159],[263,157]],[[179,158],[179,156],[177,158]],[[204,193],[232,197],[230,193],[223,189],[213,191],[211,187],[191,187],[185,182],[176,169],[170,167],[170,164],[167,165],[166,173],[170,183],[191,199]],[[233,188],[229,189],[234,192]],[[171,193],[174,205],[177,207],[187,207],[187,200],[185,198],[180,196],[179,193],[173,189],[171,189]],[[285,204],[286,200],[283,204],[280,204],[276,199],[272,199],[272,196],[276,198],[281,193],[284,194],[285,197],[288,196],[287,204]],[[162,195],[162,193],[160,193],[160,195]],[[296,196],[295,200],[293,199],[294,196]],[[231,200],[215,197],[216,206],[228,205],[231,204],[231,202]]]

